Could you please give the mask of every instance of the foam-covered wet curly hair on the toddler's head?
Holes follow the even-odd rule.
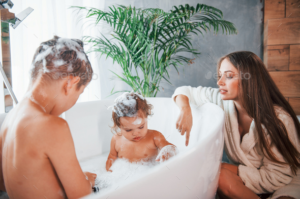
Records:
[[[120,117],[145,117],[152,115],[153,106],[147,102],[147,100],[139,93],[125,92],[121,96],[114,100],[112,120],[112,130],[117,132],[118,128],[121,127],[119,122]],[[140,115],[139,110],[142,111],[143,115]],[[139,118],[134,121],[134,124],[140,124]]]

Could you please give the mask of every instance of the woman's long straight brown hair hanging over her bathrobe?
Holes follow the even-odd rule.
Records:
[[[261,59],[252,52],[238,51],[230,53],[218,61],[218,66],[224,59],[227,59],[237,68],[239,74],[239,100],[244,110],[254,119],[255,128],[259,138],[259,146],[264,155],[272,161],[279,164],[286,164],[278,160],[276,155],[271,151],[271,146],[266,138],[267,133],[272,142],[283,155],[286,162],[291,165],[292,173],[295,175],[300,167],[300,153],[291,143],[287,130],[275,112],[275,105],[281,106],[293,119],[297,137],[300,139],[300,123],[291,105],[279,91],[271,75],[266,70]],[[219,67],[217,70],[219,71]],[[240,74],[249,73],[251,76],[243,76]],[[248,79],[249,78],[249,79]]]

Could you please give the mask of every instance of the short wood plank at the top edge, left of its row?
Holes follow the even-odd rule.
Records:
[[[285,17],[285,0],[265,0],[264,1],[264,23],[268,19]]]

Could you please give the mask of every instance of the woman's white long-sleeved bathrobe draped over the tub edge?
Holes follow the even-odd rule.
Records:
[[[187,96],[189,102],[196,106],[202,105],[205,102],[212,102],[224,110],[225,152],[230,163],[238,166],[238,175],[248,188],[256,194],[274,193],[278,190],[273,194],[272,199],[280,196],[290,196],[300,199],[300,169],[298,169],[297,176],[294,177],[289,165],[277,164],[266,158],[259,147],[254,120],[251,123],[249,133],[244,135],[241,142],[234,102],[232,100],[223,101],[218,88],[183,86],[175,90],[172,95],[173,101],[177,95]],[[260,107],[263,108],[263,104],[260,104]],[[285,125],[290,141],[300,151],[300,144],[292,118],[282,107],[275,106],[275,110],[278,118]],[[271,120],[271,118],[269,119]],[[263,125],[262,127],[265,130]],[[284,157],[272,144],[268,134],[267,137],[269,142],[271,142],[271,150],[276,154],[279,161],[286,162]],[[292,183],[290,183],[291,181]]]

